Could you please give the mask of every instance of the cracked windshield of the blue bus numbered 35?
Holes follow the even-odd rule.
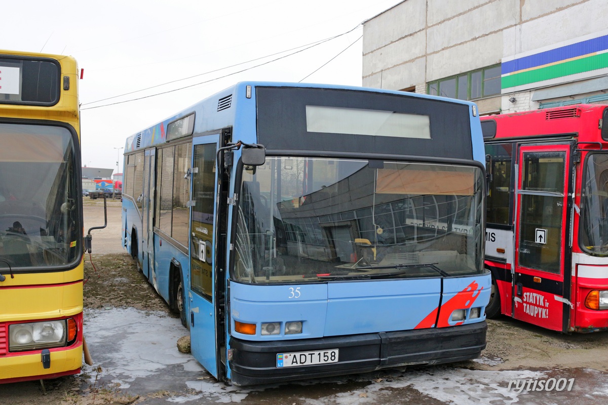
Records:
[[[232,277],[480,274],[482,177],[472,166],[266,157],[243,171]]]

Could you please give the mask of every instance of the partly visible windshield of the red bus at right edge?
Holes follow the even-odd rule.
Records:
[[[608,254],[608,154],[589,154],[581,195],[581,248]]]

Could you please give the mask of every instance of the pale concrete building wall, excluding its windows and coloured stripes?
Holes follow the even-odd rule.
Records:
[[[472,100],[482,114],[601,99],[608,80],[598,78],[607,75],[608,63],[606,71],[506,89],[513,76],[505,77],[518,72],[505,75],[504,66],[562,43],[608,34],[607,12],[606,0],[405,0],[364,23],[363,85],[425,93],[431,81],[502,63],[502,94]]]

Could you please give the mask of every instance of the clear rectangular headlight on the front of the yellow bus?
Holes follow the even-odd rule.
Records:
[[[47,349],[66,345],[66,320],[9,325],[9,351]]]

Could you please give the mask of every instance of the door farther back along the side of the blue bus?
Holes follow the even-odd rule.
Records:
[[[158,290],[154,273],[154,185],[156,179],[156,149],[147,149],[143,157],[143,194],[142,199],[142,256],[143,274]]]

